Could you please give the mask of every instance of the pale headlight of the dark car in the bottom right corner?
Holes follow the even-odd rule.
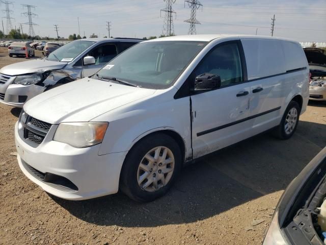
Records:
[[[279,211],[276,211],[265,235],[263,245],[287,245],[279,227]]]

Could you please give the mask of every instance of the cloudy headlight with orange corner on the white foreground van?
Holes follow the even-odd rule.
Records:
[[[108,122],[63,122],[53,140],[85,148],[102,142]]]

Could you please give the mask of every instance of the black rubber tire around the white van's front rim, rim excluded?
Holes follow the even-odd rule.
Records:
[[[164,146],[172,152],[174,157],[174,170],[166,185],[150,192],[142,189],[138,184],[138,168],[144,156],[157,146]],[[127,154],[121,169],[120,190],[137,202],[153,201],[167,193],[179,175],[181,167],[181,150],[177,142],[169,135],[163,133],[151,134],[137,142]],[[150,177],[152,177],[152,175]]]

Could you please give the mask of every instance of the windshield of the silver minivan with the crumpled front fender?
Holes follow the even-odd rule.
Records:
[[[49,54],[46,59],[70,62],[94,43],[95,41],[75,40],[59,47],[56,51]]]

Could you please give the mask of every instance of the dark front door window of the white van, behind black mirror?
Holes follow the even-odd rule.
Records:
[[[218,45],[201,60],[194,70],[195,77],[211,73],[221,77],[221,86],[242,82],[242,70],[238,45],[226,43]]]

